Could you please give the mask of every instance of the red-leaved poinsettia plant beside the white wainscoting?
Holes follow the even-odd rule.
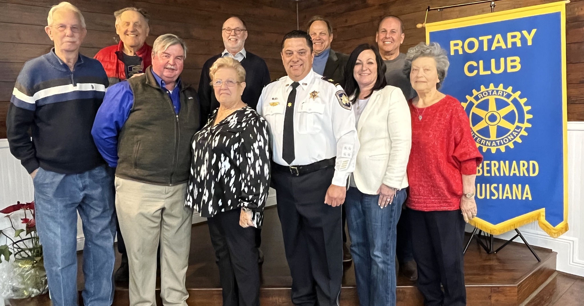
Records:
[[[13,214],[23,211],[24,218],[20,218],[20,225],[18,228],[15,226],[15,222],[12,218]],[[36,231],[36,221],[34,220],[34,201],[30,203],[20,203],[8,206],[0,213],[5,214],[5,218],[10,220],[10,227],[0,230],[0,235],[6,237],[6,244],[0,245],[0,263],[2,262],[2,256],[6,261],[10,260],[11,255],[14,255],[15,259],[30,259],[37,261],[43,255],[43,248],[39,242],[39,236]],[[22,228],[24,227],[24,228]]]

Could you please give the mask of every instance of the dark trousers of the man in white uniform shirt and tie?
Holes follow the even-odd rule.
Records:
[[[278,215],[298,306],[338,305],[343,276],[341,208],[324,203],[335,169],[273,171]],[[318,304],[317,304],[318,303]]]

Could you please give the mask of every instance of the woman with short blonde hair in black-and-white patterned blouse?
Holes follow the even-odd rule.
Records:
[[[270,180],[267,123],[241,100],[245,69],[219,58],[209,75],[220,106],[193,136],[186,205],[207,217],[218,259],[223,305],[259,305],[255,228]]]

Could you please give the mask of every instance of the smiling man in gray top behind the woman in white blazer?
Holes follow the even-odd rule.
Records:
[[[415,96],[415,91],[404,74],[405,54],[399,53],[399,46],[404,43],[404,23],[396,16],[385,16],[379,22],[375,41],[379,53],[385,62],[385,79],[387,85],[399,87],[405,99]]]

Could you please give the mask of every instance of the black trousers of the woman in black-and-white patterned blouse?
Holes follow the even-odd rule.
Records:
[[[241,209],[207,218],[211,244],[218,258],[223,306],[259,305],[259,264],[256,228],[239,225]]]

